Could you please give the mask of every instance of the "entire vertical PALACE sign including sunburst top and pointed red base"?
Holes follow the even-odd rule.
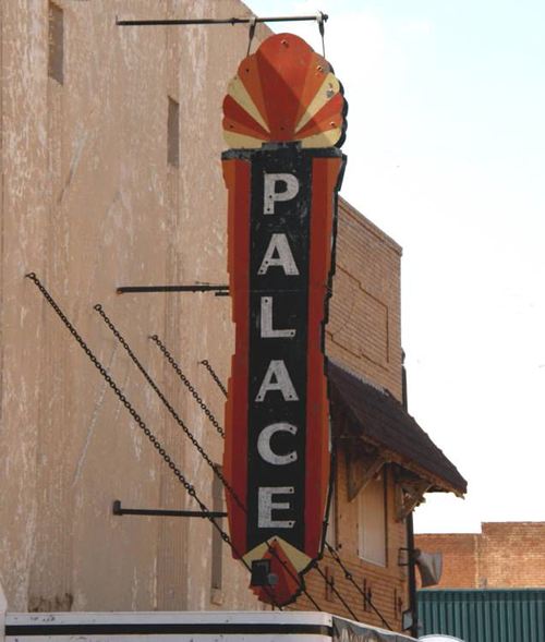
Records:
[[[226,405],[233,554],[283,605],[320,556],[330,436],[324,327],[347,107],[301,38],[267,38],[223,101],[228,268],[235,324]]]

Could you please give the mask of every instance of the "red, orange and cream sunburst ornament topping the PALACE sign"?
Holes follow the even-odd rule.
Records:
[[[331,66],[302,38],[278,34],[245,58],[223,100],[223,135],[233,149],[300,141],[340,147],[347,104]]]

